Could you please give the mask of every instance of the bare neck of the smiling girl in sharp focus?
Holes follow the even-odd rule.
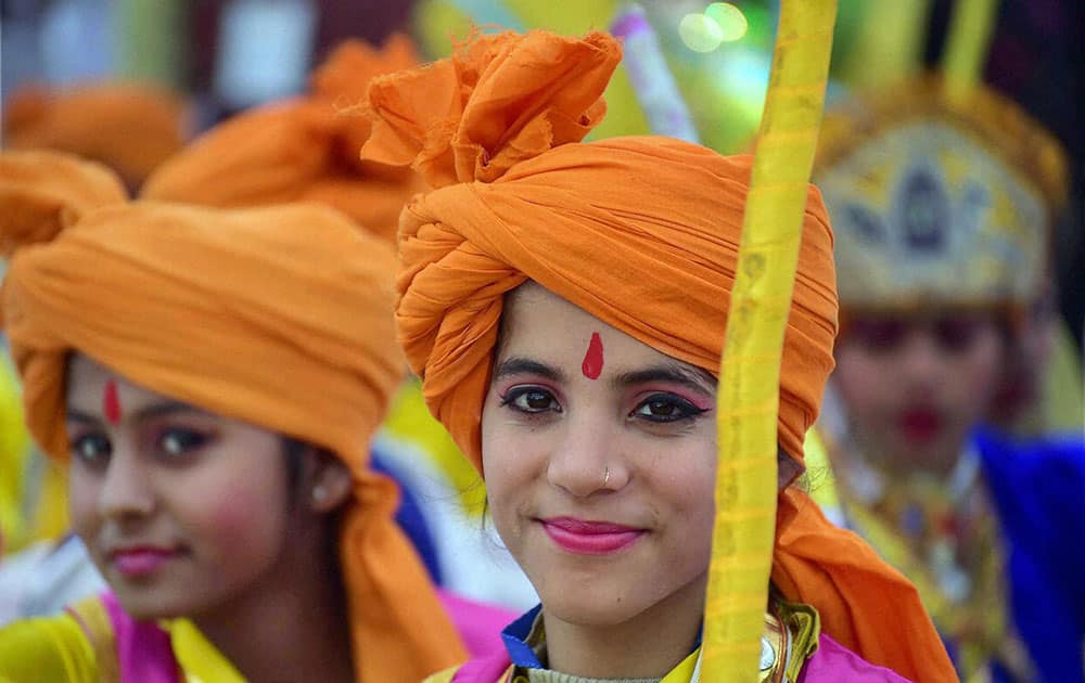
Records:
[[[598,679],[665,676],[693,650],[706,585],[707,574],[614,624],[573,623],[544,605],[549,668]]]

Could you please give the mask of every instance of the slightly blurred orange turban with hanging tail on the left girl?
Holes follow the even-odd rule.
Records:
[[[3,323],[50,454],[67,453],[73,350],[327,448],[354,476],[340,552],[358,680],[417,683],[465,657],[394,521],[395,484],[367,467],[403,374],[386,242],[315,204],[125,203],[105,169],[49,153],[0,155],[0,234],[17,249]]]

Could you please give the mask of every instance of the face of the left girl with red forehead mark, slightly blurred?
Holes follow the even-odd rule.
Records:
[[[136,618],[200,616],[267,576],[288,542],[278,435],[68,369],[72,520]]]

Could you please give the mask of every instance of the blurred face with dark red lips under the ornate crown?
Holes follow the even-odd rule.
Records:
[[[833,382],[864,449],[944,472],[994,396],[1003,358],[994,315],[863,315],[837,345]]]

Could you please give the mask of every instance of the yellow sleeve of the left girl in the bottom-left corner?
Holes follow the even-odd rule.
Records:
[[[15,621],[0,629],[4,683],[115,683],[101,679],[94,650],[71,615]]]

